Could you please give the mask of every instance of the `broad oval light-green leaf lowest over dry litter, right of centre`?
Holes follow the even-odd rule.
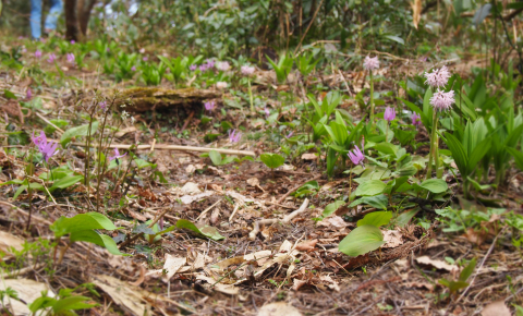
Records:
[[[386,242],[379,228],[360,226],[351,231],[338,245],[338,250],[351,257],[357,257],[382,246]]]

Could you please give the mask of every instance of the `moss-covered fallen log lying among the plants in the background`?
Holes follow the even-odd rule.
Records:
[[[221,97],[221,93],[209,89],[181,88],[166,89],[157,87],[137,87],[119,92],[117,108],[125,105],[127,112],[145,112],[171,107],[202,106],[207,99]]]

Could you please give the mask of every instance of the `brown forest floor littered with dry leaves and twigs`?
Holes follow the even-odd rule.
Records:
[[[26,113],[24,123],[20,120],[22,110],[17,102],[0,99],[5,112],[1,124],[3,135],[11,132],[10,122],[29,134],[35,127],[46,126],[45,120],[57,118],[57,113],[62,120],[73,122],[82,111],[78,101],[95,98],[95,89],[112,93],[113,84],[100,81],[97,73],[64,72],[66,76],[83,78],[83,85],[73,89],[44,87],[39,93],[42,109]],[[358,77],[357,73],[345,73],[343,77],[332,74],[330,84],[332,88],[348,83],[357,87],[362,85]],[[0,73],[1,89],[21,98],[29,84],[31,80]],[[123,87],[124,84],[119,85]],[[257,86],[259,93],[266,88],[262,84]],[[233,122],[234,127],[243,126],[246,131],[260,129],[256,122],[263,114],[228,107],[223,98],[232,97],[226,94],[216,98],[219,106],[214,111],[215,122]],[[277,107],[277,104],[269,97],[269,105]],[[434,209],[458,205],[486,211],[484,206],[460,197],[460,182],[455,179],[448,180],[454,192],[451,200],[433,206],[422,203],[423,210],[417,216],[431,219],[428,229],[406,224],[393,230],[379,251],[351,258],[338,251],[338,244],[356,227],[356,220],[373,209],[341,207],[320,219],[326,205],[349,196],[355,184],[342,174],[327,179],[324,163],[314,156],[316,150],[271,172],[262,162],[245,160],[214,166],[209,158],[200,157],[200,153],[155,148],[168,144],[255,154],[278,149],[278,143],[264,138],[231,145],[226,135],[211,143],[204,142],[207,133],[220,127],[212,124],[200,127],[202,122],[190,112],[199,113],[202,107],[197,102],[180,113],[172,108],[154,114],[132,113],[136,123],[126,122],[113,141],[121,145],[151,145],[153,148],[134,149],[134,153],[156,165],[156,169],[137,170],[124,185],[101,185],[108,198],[106,206],[97,210],[110,215],[121,228],[112,236],[120,251],[131,256],[115,256],[97,245],[77,242],[65,252],[63,260],[57,263],[54,250],[46,243],[53,240],[49,226],[60,216],[72,217],[96,209],[93,187],[86,194],[85,185],[77,185],[72,191],[54,194],[53,199],[34,193],[29,202],[26,192],[13,200],[16,187],[1,186],[3,288],[38,296],[41,289],[58,293],[59,289],[93,283],[76,293],[89,296],[98,305],[86,312],[77,311],[81,315],[510,315],[506,303],[511,311],[511,304],[522,303],[521,252],[512,245],[511,231],[496,215],[482,223],[483,233],[443,232],[446,227],[438,221]],[[340,108],[355,117],[360,111],[349,101]],[[173,116],[177,116],[177,125],[167,121]],[[282,121],[292,121],[299,113],[288,111],[280,116]],[[170,132],[172,130],[178,136]],[[184,130],[190,133],[179,137]],[[56,136],[58,139],[60,134]],[[2,141],[5,150],[13,147],[25,150],[29,146],[9,145],[7,141],[7,137]],[[426,131],[418,133],[416,142],[428,143]],[[83,147],[73,142],[69,151],[51,159],[51,165],[68,163],[83,174],[85,154],[82,150]],[[428,146],[417,150],[426,154]],[[123,170],[127,165],[121,160]],[[23,178],[26,163],[23,157],[5,155],[2,150],[0,167],[0,182],[5,182],[13,177]],[[45,166],[38,165],[35,175],[45,171]],[[161,172],[168,183],[158,181],[156,171]],[[113,180],[110,174],[106,177]],[[317,181],[318,187],[307,197],[291,195],[312,180]],[[514,181],[523,183],[522,174],[515,174]],[[124,206],[119,206],[125,196]],[[521,192],[504,192],[497,206],[522,214]],[[190,230],[171,231],[151,243],[143,235],[135,238],[138,235],[136,224],[160,217],[165,226],[186,219],[216,228],[210,233],[217,238],[204,239]],[[254,231],[255,227],[259,227],[259,232]],[[24,253],[23,241],[33,243],[34,247]],[[61,241],[59,246],[64,247],[66,243]],[[477,265],[469,284],[449,295],[449,289],[439,280],[458,280],[462,267],[457,263],[472,258],[477,259]],[[17,306],[23,311],[24,303],[28,302],[21,302],[22,307],[12,303],[10,308]]]

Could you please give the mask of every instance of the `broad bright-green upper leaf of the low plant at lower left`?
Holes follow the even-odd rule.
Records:
[[[62,236],[68,233],[78,232],[83,230],[105,229],[115,230],[117,227],[105,215],[99,212],[78,214],[75,217],[66,218],[60,217],[49,229],[54,232],[54,235]]]

